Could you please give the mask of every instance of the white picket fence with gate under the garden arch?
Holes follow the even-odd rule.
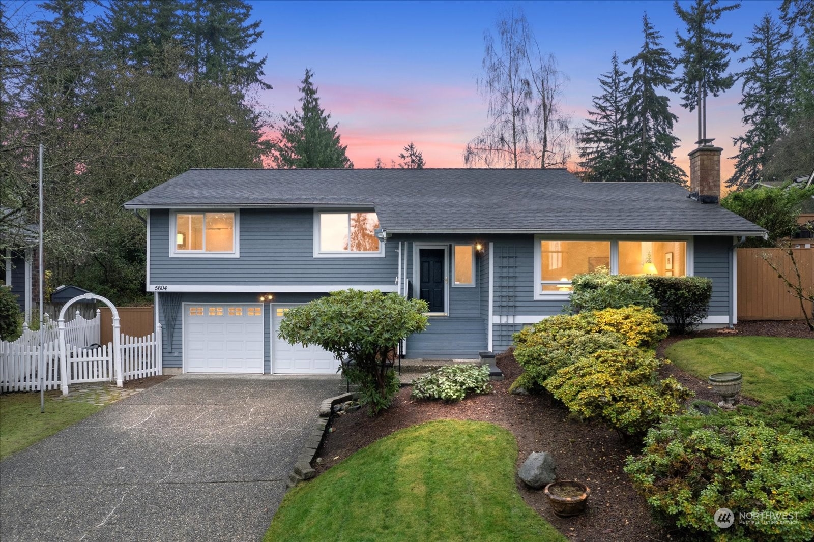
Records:
[[[98,314],[97,314],[98,318]],[[84,319],[83,319],[84,320]],[[95,320],[95,319],[94,319]],[[77,326],[79,328],[79,326]],[[84,332],[82,332],[84,333]],[[73,334],[74,339],[94,339],[92,334]],[[98,330],[95,335],[98,342]],[[158,333],[146,337],[120,335],[120,359],[122,379],[132,380],[162,374],[161,369],[161,326]],[[18,339],[19,341],[19,339]],[[20,344],[18,341],[7,343],[0,341],[0,390],[2,391],[39,391],[39,355],[38,344]],[[113,345],[107,343],[98,348],[76,347],[66,340],[66,372],[68,384],[80,382],[106,382],[116,379]],[[45,361],[45,389],[59,389],[62,375],[59,363],[59,341],[45,343],[43,348]]]

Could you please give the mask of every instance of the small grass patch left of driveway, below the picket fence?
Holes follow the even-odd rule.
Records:
[[[100,406],[71,401],[52,401],[59,391],[46,391],[46,412],[40,413],[38,392],[3,393],[0,395],[0,459],[28,448],[46,436],[54,435]]]

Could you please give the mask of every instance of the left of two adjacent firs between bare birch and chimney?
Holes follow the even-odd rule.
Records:
[[[580,168],[589,181],[630,180],[625,107],[628,103],[628,76],[619,68],[614,51],[610,72],[599,77],[602,94],[593,97],[588,125],[580,132]]]

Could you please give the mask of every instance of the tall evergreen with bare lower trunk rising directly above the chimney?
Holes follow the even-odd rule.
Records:
[[[735,83],[733,74],[724,75],[729,68],[729,52],[740,49],[729,40],[732,33],[716,32],[712,27],[725,11],[736,10],[741,5],[717,7],[718,0],[695,0],[689,10],[679,3],[673,9],[686,25],[687,37],[676,31],[676,46],[681,49],[678,63],[684,68],[676,80],[673,92],[681,94],[681,107],[689,111],[698,108],[698,140],[707,139],[707,96],[717,97]]]

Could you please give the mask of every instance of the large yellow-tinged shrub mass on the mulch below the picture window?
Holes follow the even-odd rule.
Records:
[[[607,308],[546,318],[514,334],[514,358],[528,376],[583,418],[626,435],[681,410],[690,395],[659,380],[653,348],[667,326],[652,308]]]

